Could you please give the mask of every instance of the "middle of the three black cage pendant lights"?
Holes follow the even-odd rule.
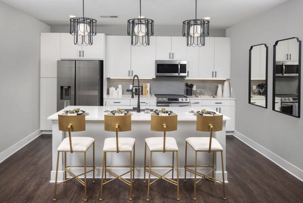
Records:
[[[141,16],[141,0],[140,16],[127,21],[127,35],[131,36],[132,46],[147,46],[149,45],[149,36],[154,35],[154,20]]]

